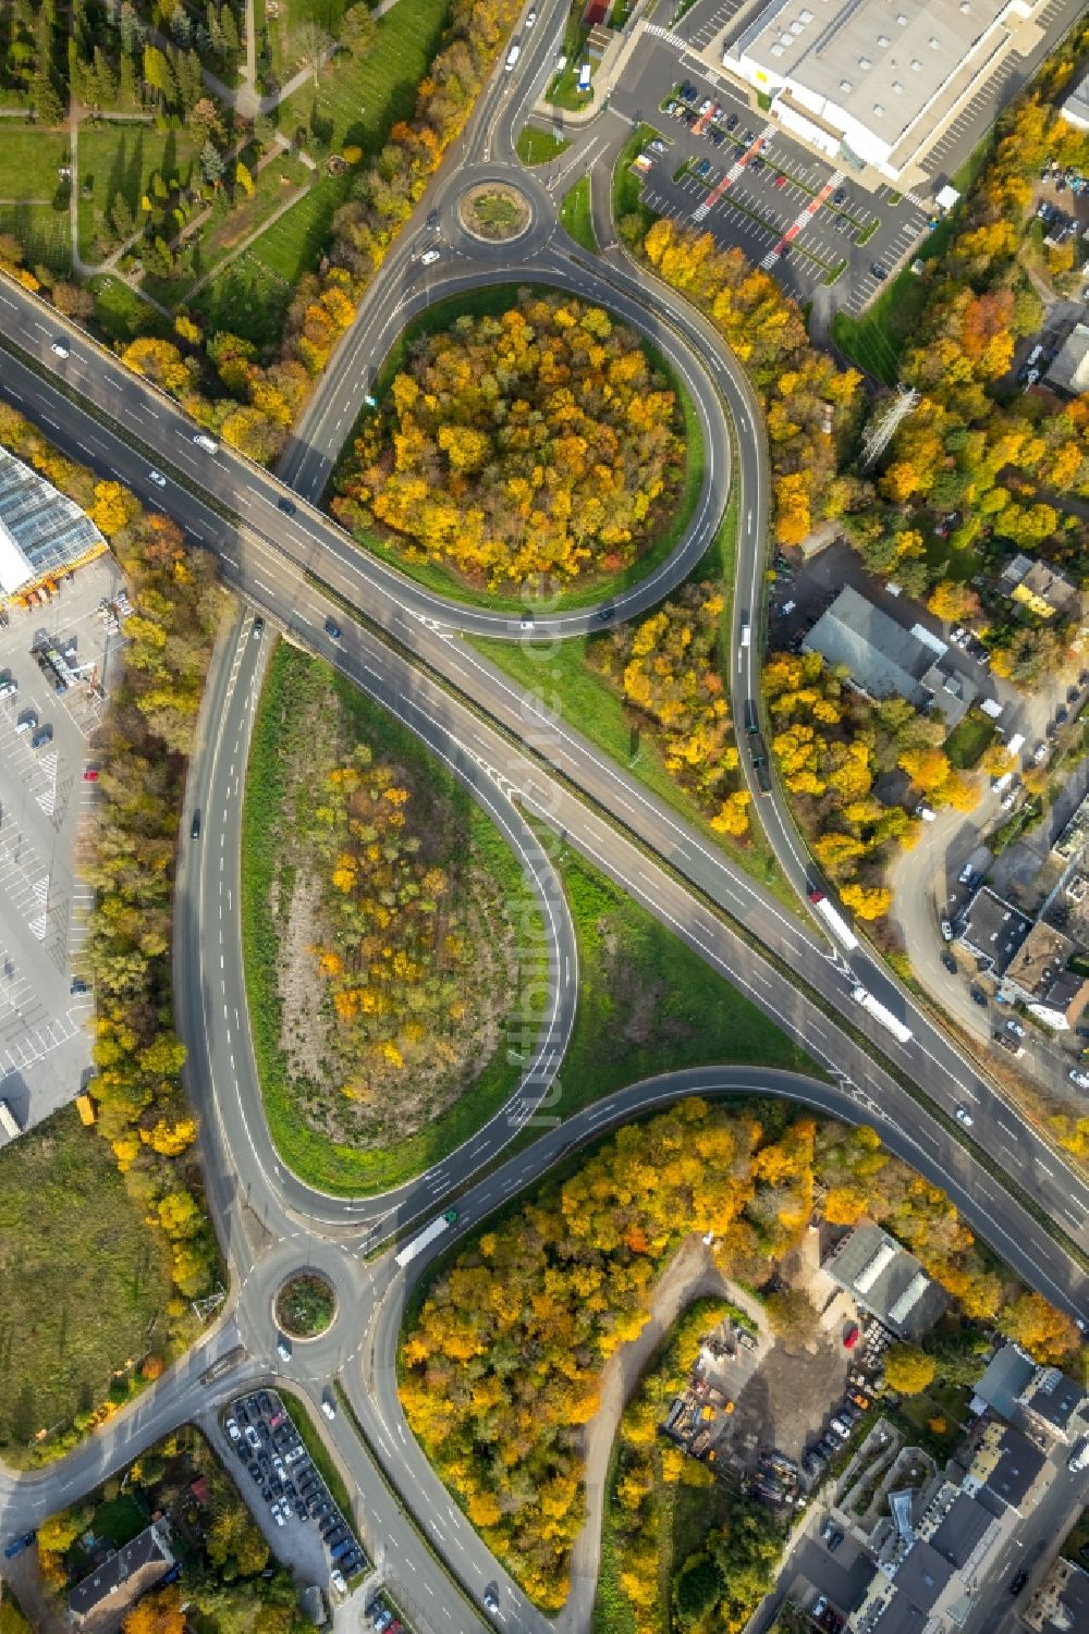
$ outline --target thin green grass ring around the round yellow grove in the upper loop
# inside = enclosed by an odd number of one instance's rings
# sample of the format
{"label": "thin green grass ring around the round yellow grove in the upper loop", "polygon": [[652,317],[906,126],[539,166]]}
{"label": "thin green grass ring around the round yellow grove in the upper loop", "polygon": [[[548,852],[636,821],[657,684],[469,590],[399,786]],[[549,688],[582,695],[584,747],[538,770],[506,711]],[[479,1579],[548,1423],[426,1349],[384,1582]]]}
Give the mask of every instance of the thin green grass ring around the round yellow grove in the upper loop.
{"label": "thin green grass ring around the round yellow grove in the upper loop", "polygon": [[[540,286],[533,286],[540,288]],[[505,312],[515,301],[515,284],[491,284],[481,289],[473,289],[468,294],[450,296],[445,301],[437,301],[435,306],[428,307],[419,317],[415,317],[397,337],[397,342],[386,356],[381,369],[378,371],[374,382],[371,386],[371,395],[381,399],[384,392],[389,391],[397,369],[404,366],[404,358],[407,355],[407,346],[419,335],[433,335],[437,330],[448,328],[456,317],[461,314],[471,314],[473,317],[481,317],[484,314]],[[544,289],[543,292],[553,292]],[[556,596],[554,606],[558,609],[571,609],[582,606],[594,606],[608,596],[618,595],[621,590],[630,588],[648,574],[654,572],[656,567],[672,556],[679,541],[688,528],[692,515],[695,511],[697,502],[700,498],[700,487],[703,484],[703,433],[700,430],[700,422],[697,418],[695,405],[687,389],[682,386],[679,377],[674,374],[669,361],[654,350],[648,342],[643,343],[644,351],[662,374],[667,376],[672,391],[677,394],[680,404],[680,412],[683,417],[683,443],[687,451],[687,464],[683,472],[683,482],[680,489],[680,497],[670,521],[656,534],[656,538],[644,547],[643,554],[631,567],[623,569],[620,574],[602,575],[589,583],[577,585],[572,590],[564,590]],[[358,436],[358,426],[371,408],[366,405],[360,410],[355,425],[348,431],[343,441],[343,449],[352,449],[355,438]],[[329,495],[335,490],[335,471],[330,477],[329,489],[325,490],[325,502]],[[402,574],[415,578],[419,583],[425,585],[428,590],[437,592],[441,596],[450,596],[453,601],[461,601],[469,606],[486,606],[491,611],[507,611],[520,613],[525,608],[525,598],[504,595],[502,592],[479,590],[474,585],[468,585],[461,577],[445,567],[441,562],[410,562],[406,560],[404,552],[397,547],[392,539],[388,539],[376,533],[368,533],[365,539],[358,541],[365,549],[371,551],[383,562],[389,562],[392,567],[399,567]]]}

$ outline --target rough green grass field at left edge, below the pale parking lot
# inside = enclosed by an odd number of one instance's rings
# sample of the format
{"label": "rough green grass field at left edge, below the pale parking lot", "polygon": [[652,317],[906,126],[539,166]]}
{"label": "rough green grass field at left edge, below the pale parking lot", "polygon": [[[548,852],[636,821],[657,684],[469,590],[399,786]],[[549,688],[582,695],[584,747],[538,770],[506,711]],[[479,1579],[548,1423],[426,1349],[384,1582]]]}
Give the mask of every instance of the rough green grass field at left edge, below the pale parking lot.
{"label": "rough green grass field at left edge, below the pale parking lot", "polygon": [[110,1145],[74,1106],[0,1152],[0,1454],[103,1400],[147,1353],[170,1278]]}

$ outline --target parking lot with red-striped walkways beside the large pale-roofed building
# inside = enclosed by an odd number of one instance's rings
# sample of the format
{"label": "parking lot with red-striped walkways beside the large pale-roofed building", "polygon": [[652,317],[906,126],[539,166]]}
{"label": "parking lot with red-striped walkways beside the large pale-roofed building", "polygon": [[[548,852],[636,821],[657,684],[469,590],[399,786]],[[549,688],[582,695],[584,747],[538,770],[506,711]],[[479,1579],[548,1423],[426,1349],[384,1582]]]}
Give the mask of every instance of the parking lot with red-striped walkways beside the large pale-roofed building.
{"label": "parking lot with red-striped walkways beside the large pale-roofed building", "polygon": [[868,193],[700,59],[679,60],[672,41],[644,36],[613,106],[659,132],[643,185],[651,209],[736,245],[798,301],[819,291],[829,314],[860,312],[927,232],[919,203]]}

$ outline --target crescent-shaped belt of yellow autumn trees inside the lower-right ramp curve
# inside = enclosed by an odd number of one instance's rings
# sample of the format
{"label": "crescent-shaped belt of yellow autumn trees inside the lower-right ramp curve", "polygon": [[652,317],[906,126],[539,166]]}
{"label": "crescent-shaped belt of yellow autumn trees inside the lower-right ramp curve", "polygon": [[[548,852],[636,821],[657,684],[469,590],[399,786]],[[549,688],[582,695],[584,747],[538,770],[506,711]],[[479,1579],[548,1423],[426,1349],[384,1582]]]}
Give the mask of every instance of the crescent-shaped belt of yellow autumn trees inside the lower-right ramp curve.
{"label": "crescent-shaped belt of yellow autumn trees inside the lower-right ramp curve", "polygon": [[[1050,1310],[1048,1327],[1048,1307],[996,1268],[950,1199],[891,1159],[872,1129],[782,1108],[769,1108],[764,1127],[752,1108],[700,1100],[628,1126],[567,1180],[466,1242],[402,1340],[412,1430],[541,1608],[556,1611],[567,1595],[585,1511],[582,1426],[597,1410],[602,1369],[643,1330],[656,1278],[690,1232],[710,1232],[719,1266],[759,1284],[801,1240],[819,1198],[829,1222],[885,1224],[966,1315],[999,1325],[1009,1315],[1040,1359],[1078,1351],[1073,1320]],[[616,1485],[630,1533],[620,1590],[639,1627],[656,1605],[644,1516],[664,1480],[683,1479],[675,1462],[656,1462],[656,1409],[641,1399],[630,1409]],[[759,1582],[762,1551],[749,1542],[741,1526],[737,1570],[726,1574],[741,1598],[742,1583]],[[731,1547],[716,1547],[724,1564]]]}

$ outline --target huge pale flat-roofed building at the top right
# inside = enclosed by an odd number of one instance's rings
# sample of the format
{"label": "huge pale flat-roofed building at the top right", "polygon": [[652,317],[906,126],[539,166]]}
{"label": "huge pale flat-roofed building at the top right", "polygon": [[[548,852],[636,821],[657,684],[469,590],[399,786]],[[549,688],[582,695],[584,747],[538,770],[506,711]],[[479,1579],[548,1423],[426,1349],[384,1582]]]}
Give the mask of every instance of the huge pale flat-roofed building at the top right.
{"label": "huge pale flat-roofed building at the top right", "polygon": [[770,0],[724,65],[788,131],[862,180],[909,188],[1043,0]]}

